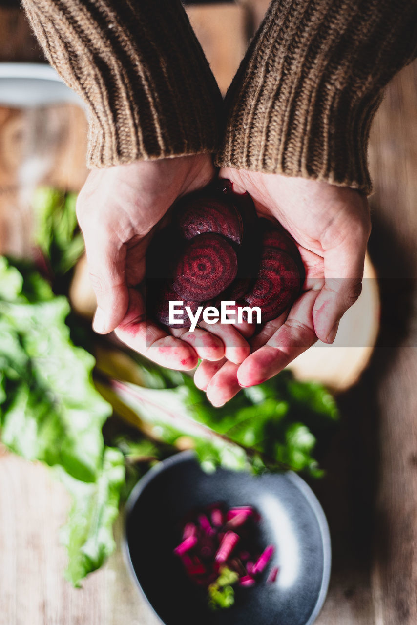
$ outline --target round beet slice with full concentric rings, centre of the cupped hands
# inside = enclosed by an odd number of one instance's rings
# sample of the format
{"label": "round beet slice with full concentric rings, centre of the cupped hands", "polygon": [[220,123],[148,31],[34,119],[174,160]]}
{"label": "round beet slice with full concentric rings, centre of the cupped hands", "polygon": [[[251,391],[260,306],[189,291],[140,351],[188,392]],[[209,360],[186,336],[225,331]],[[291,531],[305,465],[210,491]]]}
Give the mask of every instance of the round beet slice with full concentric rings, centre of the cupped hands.
{"label": "round beet slice with full concentric rings, centre of the cupped hands", "polygon": [[233,282],[238,259],[231,244],[219,234],[191,239],[174,268],[174,291],[182,299],[204,302]]}

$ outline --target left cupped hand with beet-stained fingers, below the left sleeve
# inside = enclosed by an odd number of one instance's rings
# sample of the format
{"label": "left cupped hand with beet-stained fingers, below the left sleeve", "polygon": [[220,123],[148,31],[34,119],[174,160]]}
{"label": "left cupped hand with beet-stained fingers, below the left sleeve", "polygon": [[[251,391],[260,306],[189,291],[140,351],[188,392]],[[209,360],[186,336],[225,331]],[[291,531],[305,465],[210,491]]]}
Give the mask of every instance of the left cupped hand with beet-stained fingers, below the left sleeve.
{"label": "left cupped hand with beet-stained fingers, below the left sleeve", "polygon": [[[173,369],[193,369],[198,357],[223,357],[223,341],[203,329],[174,337],[145,322],[143,300],[134,287],[144,279],[146,248],[171,204],[213,176],[208,154],[136,161],[94,169],[78,197],[77,216],[98,303],[94,329],[101,334],[114,330],[132,349]],[[244,343],[247,351],[239,362],[249,351]]]}

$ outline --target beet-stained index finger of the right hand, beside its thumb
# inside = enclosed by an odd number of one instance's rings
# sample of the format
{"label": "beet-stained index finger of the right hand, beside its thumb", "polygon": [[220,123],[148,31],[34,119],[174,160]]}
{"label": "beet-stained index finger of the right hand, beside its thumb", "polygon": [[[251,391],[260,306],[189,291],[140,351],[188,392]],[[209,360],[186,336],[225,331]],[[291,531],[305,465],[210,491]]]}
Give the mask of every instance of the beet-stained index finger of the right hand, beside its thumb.
{"label": "beet-stained index finger of the right hand, beside its thumb", "polygon": [[237,373],[241,386],[254,386],[273,377],[316,342],[312,317],[316,297],[317,291],[307,291],[299,297],[286,322],[263,347],[246,358]]}

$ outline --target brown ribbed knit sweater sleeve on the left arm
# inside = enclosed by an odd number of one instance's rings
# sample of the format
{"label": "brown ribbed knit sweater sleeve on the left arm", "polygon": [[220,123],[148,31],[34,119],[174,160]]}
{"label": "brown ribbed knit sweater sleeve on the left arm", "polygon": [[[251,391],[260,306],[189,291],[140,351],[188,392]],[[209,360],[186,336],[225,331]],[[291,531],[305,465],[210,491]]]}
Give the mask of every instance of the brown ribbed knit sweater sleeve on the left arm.
{"label": "brown ribbed knit sweater sleeve on the left arm", "polygon": [[89,111],[88,164],[210,153],[221,96],[180,0],[23,0]]}

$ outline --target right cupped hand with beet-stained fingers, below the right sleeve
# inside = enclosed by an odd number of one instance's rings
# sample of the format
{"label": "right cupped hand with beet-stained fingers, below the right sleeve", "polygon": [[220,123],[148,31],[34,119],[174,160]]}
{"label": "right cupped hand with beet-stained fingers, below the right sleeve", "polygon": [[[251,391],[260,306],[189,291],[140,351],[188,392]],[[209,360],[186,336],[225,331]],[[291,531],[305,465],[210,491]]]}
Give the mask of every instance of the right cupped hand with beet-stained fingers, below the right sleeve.
{"label": "right cupped hand with beet-stained fingers, below the right sleeve", "polygon": [[368,202],[354,189],[236,169],[221,169],[219,176],[233,181],[236,191],[248,191],[259,216],[278,219],[290,232],[306,281],[291,309],[253,337],[252,353],[240,366],[200,364],[194,381],[214,406],[273,377],[317,339],[334,341],[339,320],[361,292],[370,232]]}

